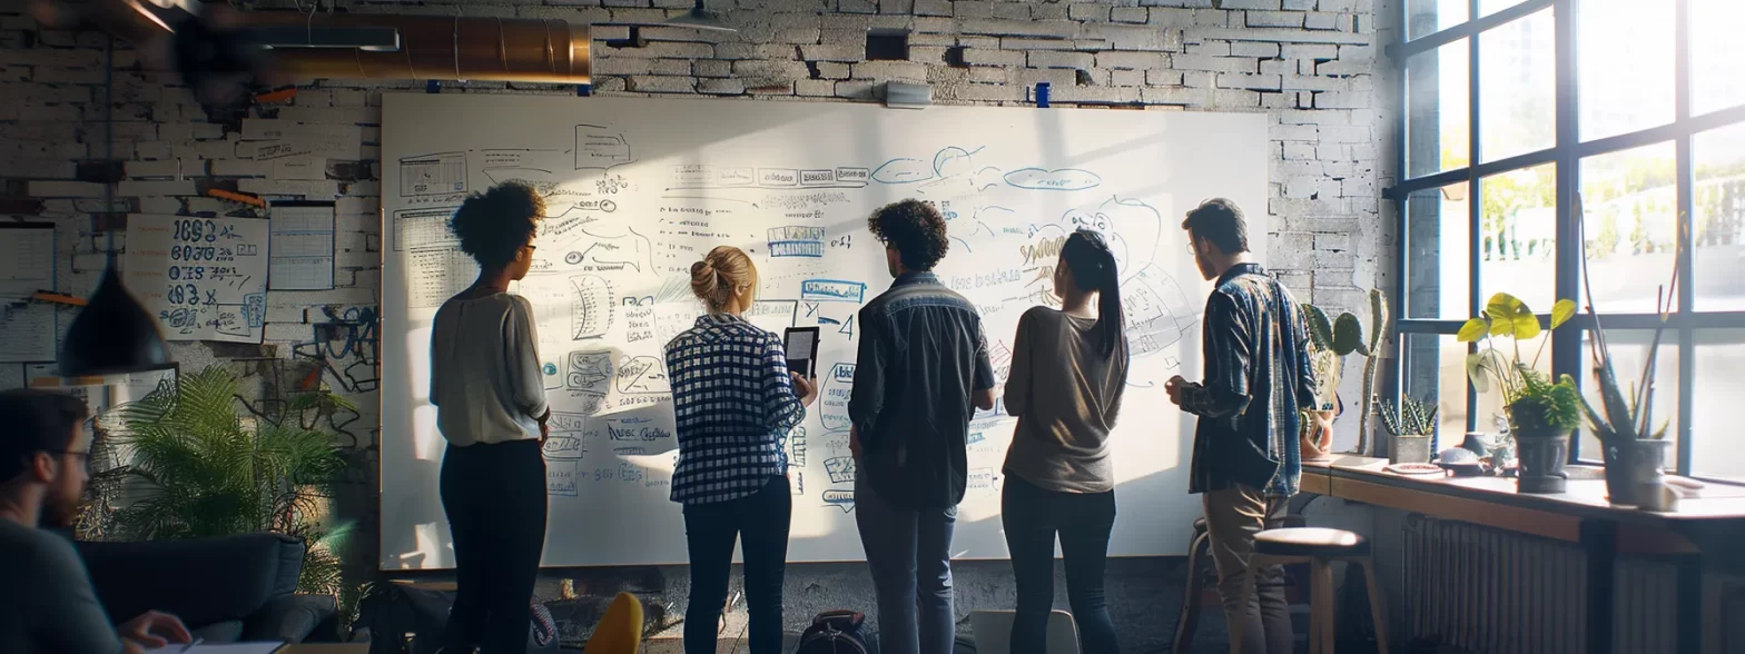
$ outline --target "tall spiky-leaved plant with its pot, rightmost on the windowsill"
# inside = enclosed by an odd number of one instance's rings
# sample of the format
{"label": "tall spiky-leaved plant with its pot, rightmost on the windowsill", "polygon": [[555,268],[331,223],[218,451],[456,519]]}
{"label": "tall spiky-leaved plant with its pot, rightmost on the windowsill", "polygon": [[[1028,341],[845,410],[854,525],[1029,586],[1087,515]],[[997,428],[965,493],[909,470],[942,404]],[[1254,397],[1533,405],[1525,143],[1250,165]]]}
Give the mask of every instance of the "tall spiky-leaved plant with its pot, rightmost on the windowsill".
{"label": "tall spiky-leaved plant with its pot, rightmost on the windowsill", "polygon": [[[1583,220],[1581,220],[1581,197],[1576,197],[1576,237],[1581,239]],[[1659,324],[1654,328],[1654,340],[1647,349],[1647,363],[1642,366],[1642,378],[1639,384],[1630,385],[1630,394],[1626,396],[1618,382],[1618,373],[1612,370],[1612,356],[1605,345],[1605,330],[1600,326],[1600,316],[1593,310],[1593,284],[1588,281],[1588,260],[1583,253],[1581,267],[1581,284],[1588,296],[1588,316],[1593,319],[1593,338],[1588,342],[1590,354],[1593,358],[1593,378],[1598,382],[1600,391],[1600,408],[1604,415],[1581,398],[1581,408],[1588,417],[1588,426],[1593,429],[1593,436],[1600,441],[1600,450],[1605,457],[1605,494],[1612,504],[1635,506],[1647,511],[1670,511],[1677,497],[1665,488],[1665,474],[1661,473],[1666,466],[1666,448],[1672,445],[1666,441],[1666,424],[1658,427],[1653,422],[1653,399],[1654,399],[1654,363],[1659,354],[1659,338],[1666,331],[1666,319],[1672,314],[1670,298],[1675,296],[1679,290],[1679,265],[1677,262],[1684,258],[1684,230],[1689,228],[1686,220],[1679,221],[1679,239],[1673,255],[1672,267],[1672,284],[1670,291],[1659,293],[1661,302],[1656,302],[1656,312],[1659,314]],[[1565,377],[1565,380],[1569,380]]]}

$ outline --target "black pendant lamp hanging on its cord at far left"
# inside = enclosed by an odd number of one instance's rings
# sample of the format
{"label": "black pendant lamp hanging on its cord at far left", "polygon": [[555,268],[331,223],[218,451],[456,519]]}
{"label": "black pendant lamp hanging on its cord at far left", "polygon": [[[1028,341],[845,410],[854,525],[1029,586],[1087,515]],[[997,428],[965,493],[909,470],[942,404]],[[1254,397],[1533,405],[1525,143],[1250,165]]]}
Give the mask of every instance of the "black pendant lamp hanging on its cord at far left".
{"label": "black pendant lamp hanging on its cord at far left", "polygon": [[[108,38],[103,66],[103,153],[113,160],[113,91],[115,91],[115,37]],[[103,211],[113,208],[113,181],[103,187]],[[152,314],[127,293],[120,274],[115,270],[115,228],[108,230],[108,267],[96,293],[61,342],[61,377],[89,375],[124,375],[133,371],[162,370],[169,364],[169,351],[164,347],[164,335],[157,330]]]}

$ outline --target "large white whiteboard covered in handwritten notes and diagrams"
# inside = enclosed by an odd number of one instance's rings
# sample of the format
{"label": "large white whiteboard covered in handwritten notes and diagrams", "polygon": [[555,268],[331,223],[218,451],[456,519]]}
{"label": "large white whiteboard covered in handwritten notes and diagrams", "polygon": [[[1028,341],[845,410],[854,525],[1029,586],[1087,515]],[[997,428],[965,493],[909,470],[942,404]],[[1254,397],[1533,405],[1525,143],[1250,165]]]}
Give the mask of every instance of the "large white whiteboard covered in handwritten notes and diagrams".
{"label": "large white whiteboard covered in handwritten notes and diagrams", "polygon": [[[824,328],[822,398],[789,443],[789,560],[864,560],[846,459],[853,316],[890,284],[866,218],[904,197],[949,218],[937,272],[981,307],[1002,380],[1017,317],[1049,302],[1057,242],[1075,225],[1112,237],[1134,361],[1113,434],[1110,553],[1187,551],[1194,422],[1162,384],[1197,375],[1208,283],[1180,223],[1202,199],[1230,197],[1248,209],[1249,242],[1265,244],[1265,115],[389,94],[382,124],[384,569],[454,565],[426,399],[429,321],[476,274],[448,213],[508,180],[548,195],[534,272],[515,290],[539,312],[557,412],[544,565],[686,562],[681,508],[667,499],[677,443],[661,345],[698,316],[689,265],[717,244],[757,263],[756,323]],[[1012,426],[988,413],[970,429],[960,558],[1007,556],[1000,464]]]}

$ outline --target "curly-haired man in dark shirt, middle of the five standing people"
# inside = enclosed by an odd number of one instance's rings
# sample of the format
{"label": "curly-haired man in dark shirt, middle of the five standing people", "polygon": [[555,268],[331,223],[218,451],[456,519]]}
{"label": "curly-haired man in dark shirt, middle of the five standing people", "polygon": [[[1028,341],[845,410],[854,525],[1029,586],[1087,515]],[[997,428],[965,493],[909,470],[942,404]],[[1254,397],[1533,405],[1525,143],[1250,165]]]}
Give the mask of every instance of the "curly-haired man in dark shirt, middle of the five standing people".
{"label": "curly-haired man in dark shirt, middle of the five standing people", "polygon": [[[848,399],[855,523],[878,593],[885,654],[949,654],[951,530],[968,483],[970,417],[993,408],[993,364],[975,305],[934,276],[946,218],[920,201],[872,213],[895,281],[860,309]],[[974,406],[974,408],[972,408]]]}

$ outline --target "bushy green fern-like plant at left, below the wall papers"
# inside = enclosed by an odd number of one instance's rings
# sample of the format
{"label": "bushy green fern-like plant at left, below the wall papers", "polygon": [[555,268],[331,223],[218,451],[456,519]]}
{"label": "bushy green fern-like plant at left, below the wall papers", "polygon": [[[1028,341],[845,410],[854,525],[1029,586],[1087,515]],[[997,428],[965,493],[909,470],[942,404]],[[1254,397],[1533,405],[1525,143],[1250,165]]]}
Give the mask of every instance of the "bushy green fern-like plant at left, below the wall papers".
{"label": "bushy green fern-like plant at left, below the wall papers", "polygon": [[115,511],[115,537],[187,539],[277,532],[305,544],[298,591],[337,595],[349,525],[328,525],[332,485],[346,469],[335,436],[311,415],[354,412],[326,389],[290,396],[277,412],[239,412],[237,378],[209,366],[119,408],[115,443],[131,452],[117,474],[140,495]]}

